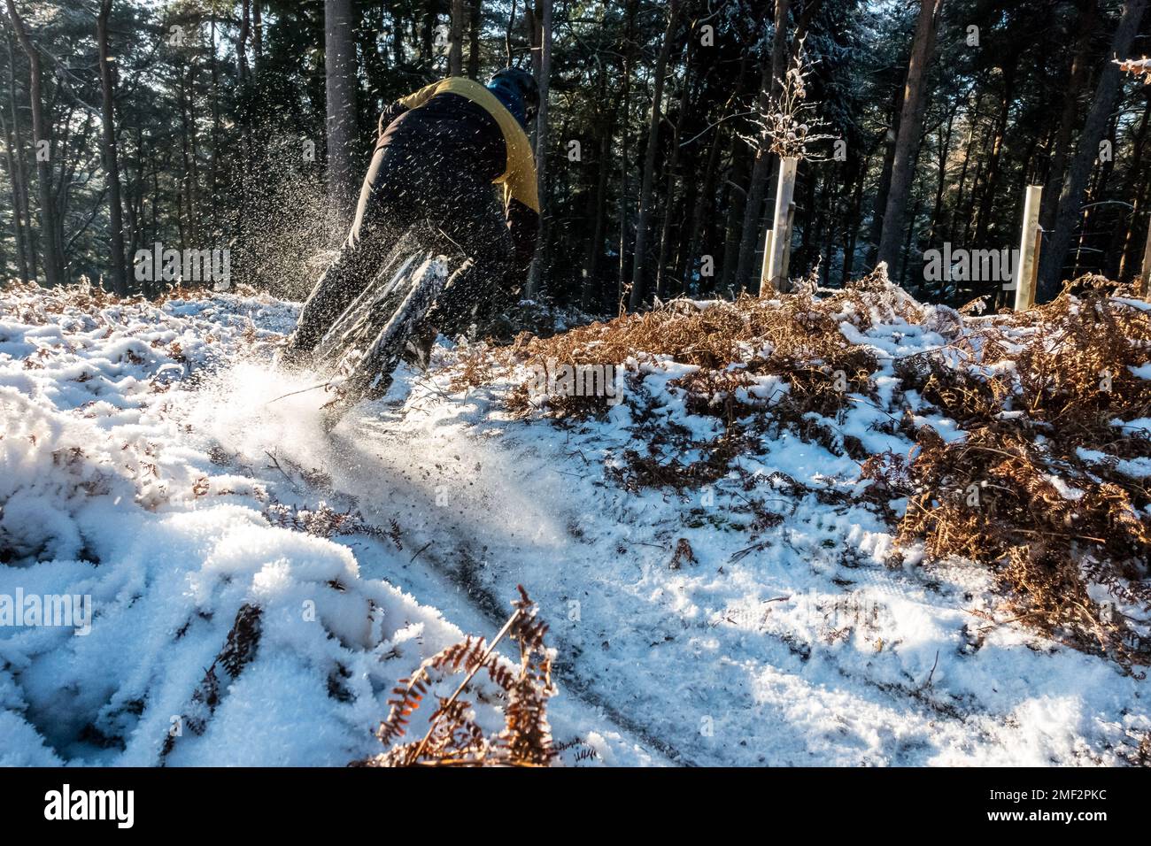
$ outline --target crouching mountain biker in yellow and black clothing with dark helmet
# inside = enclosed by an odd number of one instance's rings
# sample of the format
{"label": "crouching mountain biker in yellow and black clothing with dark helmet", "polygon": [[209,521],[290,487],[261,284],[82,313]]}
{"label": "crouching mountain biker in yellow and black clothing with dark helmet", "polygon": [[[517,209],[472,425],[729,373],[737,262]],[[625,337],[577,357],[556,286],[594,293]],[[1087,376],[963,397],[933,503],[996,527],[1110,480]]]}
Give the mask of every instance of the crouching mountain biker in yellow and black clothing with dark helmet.
{"label": "crouching mountain biker in yellow and black clothing with dark helmet", "polygon": [[436,242],[429,249],[474,260],[428,325],[456,334],[511,305],[535,251],[540,200],[526,129],[538,108],[532,75],[504,68],[487,86],[453,76],[384,109],[351,231],[304,303],[283,360],[306,358],[412,227]]}

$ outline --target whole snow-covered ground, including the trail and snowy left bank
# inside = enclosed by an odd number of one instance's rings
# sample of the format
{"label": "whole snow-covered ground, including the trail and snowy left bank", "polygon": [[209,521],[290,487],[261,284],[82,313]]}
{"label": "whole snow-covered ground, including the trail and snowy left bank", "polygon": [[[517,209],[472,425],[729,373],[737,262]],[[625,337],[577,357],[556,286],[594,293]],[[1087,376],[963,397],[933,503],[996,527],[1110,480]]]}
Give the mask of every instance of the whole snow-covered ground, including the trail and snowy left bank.
{"label": "whole snow-covered ground, including the trail and snowy left bank", "polygon": [[[847,457],[784,434],[712,487],[632,493],[609,472],[637,439],[631,403],[516,420],[506,382],[452,388],[445,346],[326,435],[318,380],[270,366],[295,314],[254,296],[0,297],[0,597],[93,611],[86,634],[0,626],[0,763],[375,754],[395,681],[490,637],[517,584],[551,625],[567,764],[1115,764],[1151,730],[1146,681],[973,613],[992,607],[983,569],[886,566],[870,510],[760,486],[775,517],[749,535],[742,479],[849,490]],[[938,343],[907,325],[864,340]],[[668,388],[679,373],[646,366],[649,411],[715,434]],[[877,409],[853,413],[869,451],[909,449],[864,434]],[[333,512],[353,515],[344,533],[302,531]],[[253,607],[233,677],[228,634]]]}

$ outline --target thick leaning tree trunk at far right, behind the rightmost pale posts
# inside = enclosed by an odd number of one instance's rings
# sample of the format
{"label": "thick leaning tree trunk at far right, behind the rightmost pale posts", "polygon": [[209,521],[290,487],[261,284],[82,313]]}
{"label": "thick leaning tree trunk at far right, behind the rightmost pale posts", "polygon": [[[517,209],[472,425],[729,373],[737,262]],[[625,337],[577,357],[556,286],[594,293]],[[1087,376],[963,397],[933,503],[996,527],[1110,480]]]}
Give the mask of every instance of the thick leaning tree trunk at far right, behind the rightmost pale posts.
{"label": "thick leaning tree trunk at far right, behind the rightmost pale posts", "polygon": [[1083,189],[1091,173],[1091,166],[1099,154],[1099,142],[1107,130],[1111,109],[1115,104],[1115,94],[1119,92],[1120,70],[1119,66],[1111,60],[1114,56],[1127,56],[1135,36],[1138,33],[1145,8],[1146,0],[1127,0],[1123,3],[1123,15],[1111,39],[1106,64],[1099,74],[1099,83],[1095,90],[1095,100],[1087,121],[1083,123],[1083,131],[1080,132],[1075,158],[1072,160],[1067,181],[1059,196],[1059,211],[1055,214],[1054,230],[1051,234],[1051,241],[1039,257],[1039,290],[1036,297],[1038,302],[1049,300],[1059,292],[1059,277],[1064,259],[1067,258],[1067,250],[1070,247],[1075,223],[1078,221]]}

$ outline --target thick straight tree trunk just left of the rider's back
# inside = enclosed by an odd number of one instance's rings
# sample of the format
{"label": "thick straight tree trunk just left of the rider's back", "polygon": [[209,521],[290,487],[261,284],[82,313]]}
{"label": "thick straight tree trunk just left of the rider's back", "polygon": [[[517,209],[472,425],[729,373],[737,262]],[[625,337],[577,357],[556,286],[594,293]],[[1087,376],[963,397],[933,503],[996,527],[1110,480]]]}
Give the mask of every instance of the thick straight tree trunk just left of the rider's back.
{"label": "thick straight tree trunk just left of the rider's back", "polygon": [[352,0],[325,0],[323,68],[327,92],[328,193],[343,227],[351,219],[356,191],[356,25]]}

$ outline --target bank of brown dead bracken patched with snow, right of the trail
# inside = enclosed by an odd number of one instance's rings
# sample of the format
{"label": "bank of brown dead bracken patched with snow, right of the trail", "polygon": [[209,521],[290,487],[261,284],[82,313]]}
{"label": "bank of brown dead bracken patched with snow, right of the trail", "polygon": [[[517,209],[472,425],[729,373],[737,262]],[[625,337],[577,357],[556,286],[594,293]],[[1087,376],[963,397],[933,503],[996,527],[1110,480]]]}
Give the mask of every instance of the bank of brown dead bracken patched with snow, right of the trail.
{"label": "bank of brown dead bracken patched with snow, right of the trail", "polygon": [[[525,374],[625,365],[637,380],[653,363],[687,365],[670,387],[722,434],[700,441],[657,422],[643,391],[630,391],[639,437],[609,471],[617,483],[699,489],[786,429],[859,463],[854,493],[821,496],[869,503],[899,548],[988,567],[1014,620],[1141,672],[1151,663],[1151,311],[1102,276],[1027,312],[982,306],[917,303],[881,267],[844,290],[809,279],[790,296],[678,299],[548,338],[525,333],[470,350],[458,383],[510,378],[509,411],[566,425],[607,413],[607,398],[561,386],[540,402]],[[902,355],[913,329],[936,343]],[[894,352],[876,338],[894,338]],[[764,378],[786,389],[762,396]],[[868,427],[902,436],[906,452],[863,447],[852,425],[861,404],[885,412]],[[942,435],[940,419],[959,436]],[[897,551],[890,563],[901,561]]]}

